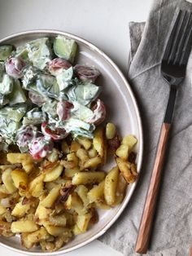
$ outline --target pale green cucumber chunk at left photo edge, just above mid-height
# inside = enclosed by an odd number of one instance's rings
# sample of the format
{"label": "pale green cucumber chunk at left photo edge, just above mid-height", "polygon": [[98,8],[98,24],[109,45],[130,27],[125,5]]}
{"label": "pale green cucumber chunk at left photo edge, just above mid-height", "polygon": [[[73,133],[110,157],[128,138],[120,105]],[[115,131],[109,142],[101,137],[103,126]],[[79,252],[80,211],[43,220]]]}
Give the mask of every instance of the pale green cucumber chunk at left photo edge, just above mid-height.
{"label": "pale green cucumber chunk at left photo edge, just above mid-height", "polygon": [[14,107],[5,107],[0,109],[0,117],[7,118],[12,121],[20,121],[26,113],[27,107],[25,105],[15,105]]}

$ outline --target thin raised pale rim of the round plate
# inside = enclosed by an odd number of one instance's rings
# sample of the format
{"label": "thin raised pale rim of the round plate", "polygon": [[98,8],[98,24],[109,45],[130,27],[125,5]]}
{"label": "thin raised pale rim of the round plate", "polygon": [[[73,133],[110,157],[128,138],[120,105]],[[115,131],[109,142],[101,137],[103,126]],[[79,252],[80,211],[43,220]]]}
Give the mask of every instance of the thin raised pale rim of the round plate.
{"label": "thin raised pale rim of the round plate", "polygon": [[[113,68],[115,68],[116,72],[119,74],[120,78],[123,80],[124,85],[126,86],[126,89],[129,92],[130,98],[132,99],[132,102],[133,102],[133,108],[135,110],[136,117],[137,117],[138,132],[139,132],[139,137],[140,137],[140,143],[139,143],[139,149],[138,149],[139,156],[138,156],[138,161],[137,161],[137,170],[138,170],[138,173],[140,174],[141,167],[142,167],[143,147],[144,147],[143,130],[142,130],[142,117],[141,117],[141,114],[139,112],[139,108],[138,108],[138,105],[137,105],[137,100],[136,100],[136,98],[133,94],[133,90],[132,90],[131,86],[129,85],[129,82],[125,78],[124,73],[121,72],[120,68],[116,65],[116,63],[113,60],[111,60],[111,58],[107,54],[105,54],[104,51],[100,50],[100,48],[95,46],[92,42],[89,42],[88,40],[85,40],[84,38],[76,36],[73,33],[64,32],[64,31],[61,31],[61,30],[58,30],[58,29],[30,29],[30,30],[25,30],[25,31],[18,32],[18,33],[11,33],[10,35],[8,35],[5,38],[1,38],[0,43],[2,43],[4,41],[7,41],[7,40],[10,40],[10,39],[18,38],[20,36],[29,35],[29,34],[36,34],[36,33],[52,33],[52,34],[55,33],[55,34],[61,34],[63,36],[67,36],[68,38],[73,38],[74,40],[77,40],[79,42],[82,42],[86,46],[89,46],[89,48],[91,50],[96,51],[99,55],[102,55],[103,58],[105,60],[107,60],[107,62],[109,64],[111,64],[111,66]],[[138,182],[138,179],[133,183],[132,187],[130,188],[129,196],[127,196],[126,200],[121,204],[120,209],[118,210],[116,216],[114,218],[112,218],[111,221],[108,222],[105,225],[105,227],[103,227],[103,230],[101,230],[100,232],[98,232],[94,236],[91,236],[88,240],[86,240],[84,242],[81,242],[79,245],[74,245],[71,248],[61,249],[61,250],[55,251],[55,252],[24,251],[23,249],[14,248],[11,245],[5,245],[1,241],[0,241],[0,245],[2,245],[3,247],[5,247],[7,249],[11,249],[12,251],[15,251],[17,253],[20,253],[20,254],[28,254],[28,255],[33,255],[33,256],[37,256],[37,255],[52,256],[52,255],[59,255],[59,254],[67,254],[68,252],[71,252],[75,249],[79,249],[79,248],[89,244],[90,242],[98,239],[98,237],[103,236],[103,234],[105,232],[107,232],[107,230],[116,222],[117,218],[120,217],[120,214],[122,214],[125,207],[128,205],[128,203],[130,201],[130,198],[133,195],[133,192],[134,192],[134,190],[137,186],[137,182]]]}

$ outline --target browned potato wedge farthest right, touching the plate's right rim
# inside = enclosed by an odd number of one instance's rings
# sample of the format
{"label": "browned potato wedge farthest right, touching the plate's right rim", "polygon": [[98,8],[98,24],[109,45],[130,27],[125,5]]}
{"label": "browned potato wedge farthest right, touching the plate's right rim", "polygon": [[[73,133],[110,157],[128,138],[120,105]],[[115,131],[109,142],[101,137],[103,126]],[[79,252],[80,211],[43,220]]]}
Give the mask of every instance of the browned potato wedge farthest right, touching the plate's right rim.
{"label": "browned potato wedge farthest right, touching the plate's right rim", "polygon": [[127,183],[133,183],[135,179],[137,179],[137,169],[135,164],[131,164],[129,161],[124,161],[120,157],[116,158],[116,163]]}

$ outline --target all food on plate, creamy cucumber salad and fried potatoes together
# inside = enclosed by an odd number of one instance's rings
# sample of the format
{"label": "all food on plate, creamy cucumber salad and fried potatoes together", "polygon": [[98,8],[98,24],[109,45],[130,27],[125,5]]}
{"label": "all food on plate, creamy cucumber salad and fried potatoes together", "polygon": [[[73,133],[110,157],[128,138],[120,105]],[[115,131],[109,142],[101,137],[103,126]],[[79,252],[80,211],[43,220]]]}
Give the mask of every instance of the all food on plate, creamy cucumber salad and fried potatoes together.
{"label": "all food on plate, creamy cucumber salad and fried potatoes together", "polygon": [[104,122],[100,73],[77,54],[62,35],[0,45],[0,235],[27,249],[60,249],[137,179],[137,139]]}

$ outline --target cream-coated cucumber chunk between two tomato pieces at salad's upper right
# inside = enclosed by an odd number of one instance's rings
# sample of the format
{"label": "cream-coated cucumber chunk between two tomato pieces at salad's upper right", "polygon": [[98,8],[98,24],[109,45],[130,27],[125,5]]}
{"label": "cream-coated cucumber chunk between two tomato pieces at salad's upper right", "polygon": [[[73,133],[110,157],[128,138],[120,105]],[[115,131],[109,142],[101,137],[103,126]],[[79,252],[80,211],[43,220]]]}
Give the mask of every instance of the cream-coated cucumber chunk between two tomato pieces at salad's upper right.
{"label": "cream-coated cucumber chunk between two tomato pieces at salad's upper right", "polygon": [[59,85],[59,90],[64,90],[66,89],[72,80],[73,76],[73,68],[68,68],[68,69],[63,69],[61,73],[59,73],[58,76],[56,76],[58,85]]}

